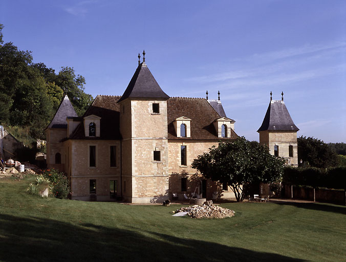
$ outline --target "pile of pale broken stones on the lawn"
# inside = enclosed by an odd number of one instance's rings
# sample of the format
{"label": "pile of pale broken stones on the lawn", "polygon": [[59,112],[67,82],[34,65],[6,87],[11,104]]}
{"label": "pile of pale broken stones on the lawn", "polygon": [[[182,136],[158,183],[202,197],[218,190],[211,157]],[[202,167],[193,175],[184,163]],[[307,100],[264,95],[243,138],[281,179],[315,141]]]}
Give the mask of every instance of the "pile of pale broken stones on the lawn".
{"label": "pile of pale broken stones on the lawn", "polygon": [[225,217],[234,216],[233,210],[222,208],[220,206],[214,206],[211,200],[204,202],[202,206],[194,205],[189,207],[181,207],[175,213],[179,212],[187,212],[187,215],[193,219],[202,219],[203,217],[209,219],[224,219]]}

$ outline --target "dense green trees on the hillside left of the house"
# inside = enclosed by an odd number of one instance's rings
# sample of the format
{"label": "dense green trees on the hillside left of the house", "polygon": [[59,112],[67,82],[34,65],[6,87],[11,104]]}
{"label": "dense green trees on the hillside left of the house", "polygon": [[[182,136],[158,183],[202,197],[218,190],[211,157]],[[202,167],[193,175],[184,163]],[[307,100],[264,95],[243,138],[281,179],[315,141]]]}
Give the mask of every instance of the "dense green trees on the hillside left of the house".
{"label": "dense green trees on the hillside left of the house", "polygon": [[44,63],[33,63],[30,51],[18,50],[3,41],[0,24],[0,124],[30,127],[30,135],[44,139],[44,129],[66,93],[78,115],[93,98],[84,93],[85,79],[73,68],[62,67],[58,74]]}

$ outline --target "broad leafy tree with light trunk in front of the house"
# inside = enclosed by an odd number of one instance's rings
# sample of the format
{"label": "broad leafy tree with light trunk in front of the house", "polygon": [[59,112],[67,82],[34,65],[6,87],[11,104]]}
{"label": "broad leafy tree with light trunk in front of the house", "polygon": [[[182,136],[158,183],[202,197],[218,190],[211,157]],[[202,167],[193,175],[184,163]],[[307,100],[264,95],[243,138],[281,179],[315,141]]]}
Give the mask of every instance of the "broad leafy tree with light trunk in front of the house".
{"label": "broad leafy tree with light trunk in front of the house", "polygon": [[220,142],[194,159],[191,167],[205,178],[227,183],[237,202],[243,201],[243,187],[250,183],[271,183],[282,176],[285,161],[269,153],[268,147],[239,137]]}

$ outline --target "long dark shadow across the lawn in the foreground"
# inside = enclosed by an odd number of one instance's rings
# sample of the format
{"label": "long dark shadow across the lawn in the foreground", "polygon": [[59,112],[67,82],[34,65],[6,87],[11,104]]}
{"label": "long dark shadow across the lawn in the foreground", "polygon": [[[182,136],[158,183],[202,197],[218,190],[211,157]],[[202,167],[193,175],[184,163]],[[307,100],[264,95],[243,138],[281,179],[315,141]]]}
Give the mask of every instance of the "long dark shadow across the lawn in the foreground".
{"label": "long dark shadow across the lawn in the foreground", "polygon": [[0,223],[2,261],[303,261],[161,233],[141,234],[93,224],[73,225],[4,214],[0,215]]}

